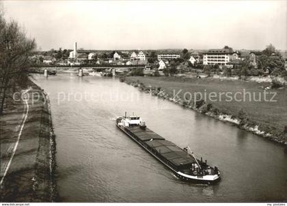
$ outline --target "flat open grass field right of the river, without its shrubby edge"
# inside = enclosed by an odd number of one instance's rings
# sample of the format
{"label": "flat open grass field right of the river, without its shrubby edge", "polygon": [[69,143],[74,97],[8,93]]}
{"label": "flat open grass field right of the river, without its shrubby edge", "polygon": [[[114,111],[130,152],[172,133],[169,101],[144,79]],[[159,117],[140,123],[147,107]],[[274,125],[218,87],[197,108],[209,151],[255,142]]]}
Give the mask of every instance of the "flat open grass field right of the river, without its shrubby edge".
{"label": "flat open grass field right of the river, without its shrubby edge", "polygon": [[[215,92],[217,98],[207,98],[206,102],[217,108],[219,113],[229,114],[236,118],[238,117],[238,112],[242,109],[247,113],[249,125],[258,125],[258,129],[269,132],[272,136],[286,136],[284,134],[284,127],[287,125],[286,88],[265,90],[268,101],[264,101],[264,88],[270,86],[270,83],[181,77],[126,77],[126,81],[139,81],[146,87],[161,88],[169,95],[174,96],[174,94],[178,94],[180,98],[183,97],[184,92],[190,92],[191,94],[200,92],[206,96],[211,92]],[[220,92],[231,92],[230,94],[233,97],[236,92],[241,92],[241,94],[236,94],[236,99],[233,98],[232,101],[226,95],[222,95],[220,101]],[[249,99],[249,94],[247,93],[251,94],[251,99]],[[260,95],[261,101],[258,101]],[[274,98],[272,98],[273,96]],[[215,99],[216,101],[213,101]]]}

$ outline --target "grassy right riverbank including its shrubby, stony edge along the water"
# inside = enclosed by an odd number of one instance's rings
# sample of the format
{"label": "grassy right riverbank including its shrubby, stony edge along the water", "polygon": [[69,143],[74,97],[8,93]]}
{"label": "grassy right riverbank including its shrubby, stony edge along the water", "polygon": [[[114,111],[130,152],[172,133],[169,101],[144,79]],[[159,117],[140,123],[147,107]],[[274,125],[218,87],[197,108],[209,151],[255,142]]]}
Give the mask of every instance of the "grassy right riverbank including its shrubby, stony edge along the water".
{"label": "grassy right riverbank including its shrubby, stony edge along the water", "polygon": [[[124,80],[126,83],[133,84],[134,86],[139,86],[143,90],[152,90],[156,95],[159,95],[159,90],[161,88],[161,97],[169,99],[176,103],[180,103],[185,107],[191,107],[198,112],[208,114],[215,118],[221,120],[229,120],[230,122],[236,123],[243,129],[253,131],[260,136],[265,136],[270,140],[284,144],[284,138],[286,138],[286,133],[284,133],[284,126],[287,125],[287,90],[283,88],[281,90],[265,90],[268,92],[266,94],[269,101],[264,101],[263,93],[264,89],[270,86],[270,83],[256,83],[247,81],[228,81],[220,79],[191,79],[191,78],[181,78],[181,77],[126,77]],[[251,93],[251,101],[249,100],[249,94]],[[206,94],[208,96],[211,92],[217,94],[217,98],[206,99],[203,105],[187,103],[182,101],[184,98],[184,93],[190,92],[194,94],[195,92],[200,92],[202,95]],[[236,101],[226,96],[221,96],[221,101],[219,101],[219,93],[231,92],[234,95],[236,92],[241,92],[242,94],[236,94],[236,99],[241,99],[242,101]],[[273,100],[273,93],[276,92]],[[178,94],[179,99],[174,98],[174,94]],[[255,95],[255,99],[253,97]],[[259,95],[261,95],[261,101],[258,101]],[[245,96],[245,101],[243,98]],[[194,98],[193,98],[194,99]],[[217,101],[213,101],[217,99]],[[244,124],[241,122],[243,117],[239,112],[244,111]]]}

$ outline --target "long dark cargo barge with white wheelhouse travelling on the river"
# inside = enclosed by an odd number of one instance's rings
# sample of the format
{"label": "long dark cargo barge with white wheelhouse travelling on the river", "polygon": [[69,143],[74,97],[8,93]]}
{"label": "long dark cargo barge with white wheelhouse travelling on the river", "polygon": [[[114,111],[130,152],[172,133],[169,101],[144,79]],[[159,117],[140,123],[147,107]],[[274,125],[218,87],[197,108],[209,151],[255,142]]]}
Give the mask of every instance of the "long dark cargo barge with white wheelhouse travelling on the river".
{"label": "long dark cargo barge with white wheelhouse travelling on the river", "polygon": [[146,127],[139,116],[122,116],[117,118],[116,125],[133,139],[150,155],[159,160],[178,179],[193,183],[216,183],[220,180],[217,167],[208,166],[206,160],[197,159],[189,146],[184,149],[165,140]]}

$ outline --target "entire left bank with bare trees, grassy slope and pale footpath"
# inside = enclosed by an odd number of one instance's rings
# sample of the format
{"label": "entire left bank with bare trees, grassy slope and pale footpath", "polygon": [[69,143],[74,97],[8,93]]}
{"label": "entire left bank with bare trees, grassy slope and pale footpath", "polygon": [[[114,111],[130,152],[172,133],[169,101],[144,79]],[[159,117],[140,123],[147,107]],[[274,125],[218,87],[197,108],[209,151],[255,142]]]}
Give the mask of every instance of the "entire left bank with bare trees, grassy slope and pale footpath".
{"label": "entire left bank with bare trees, grassy slope and pale footpath", "polygon": [[1,202],[57,201],[49,98],[28,77],[36,40],[0,6]]}

